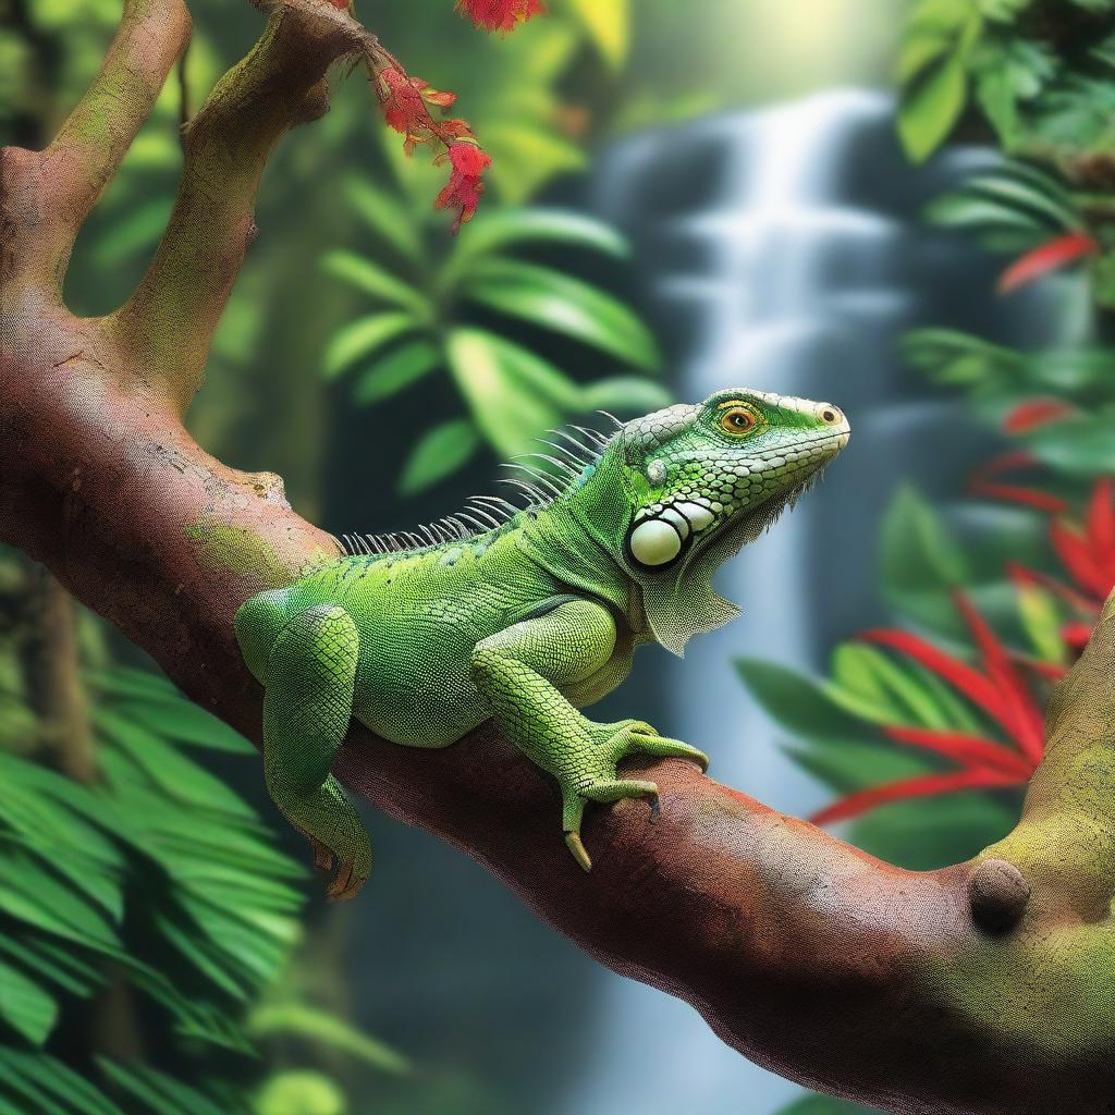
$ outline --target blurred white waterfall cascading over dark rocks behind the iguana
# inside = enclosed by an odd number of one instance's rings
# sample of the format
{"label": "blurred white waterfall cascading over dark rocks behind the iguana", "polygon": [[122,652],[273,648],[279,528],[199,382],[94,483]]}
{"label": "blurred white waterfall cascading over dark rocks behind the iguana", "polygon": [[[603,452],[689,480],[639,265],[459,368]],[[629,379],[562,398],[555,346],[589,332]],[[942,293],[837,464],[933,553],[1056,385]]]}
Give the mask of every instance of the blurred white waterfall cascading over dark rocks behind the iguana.
{"label": "blurred white waterfall cascading over dark rocks behind the iguana", "polygon": [[[688,181],[678,174],[687,165],[701,168]],[[711,200],[694,201],[707,192],[706,171]],[[986,302],[987,265],[919,223],[938,175],[901,159],[890,98],[845,90],[637,137],[597,178],[594,207],[632,236],[643,301],[678,338],[679,398],[757,387],[828,399],[852,421],[825,483],[720,572],[717,586],[743,618],[695,640],[686,662],[661,675],[659,727],[708,750],[715,777],[796,815],[825,792],[779,752],[733,659],[820,665],[827,643],[879,614],[875,540],[894,484],[914,476],[947,488],[982,449],[952,420],[957,404],[910,405],[917,384],[894,351],[915,322],[980,313],[969,322],[979,328],[1001,317]],[[963,274],[976,304],[958,310]],[[631,715],[631,698],[626,707]],[[641,985],[609,981],[592,1025],[595,1063],[556,1107],[563,1115],[766,1115],[796,1092],[721,1045],[689,1007]]]}

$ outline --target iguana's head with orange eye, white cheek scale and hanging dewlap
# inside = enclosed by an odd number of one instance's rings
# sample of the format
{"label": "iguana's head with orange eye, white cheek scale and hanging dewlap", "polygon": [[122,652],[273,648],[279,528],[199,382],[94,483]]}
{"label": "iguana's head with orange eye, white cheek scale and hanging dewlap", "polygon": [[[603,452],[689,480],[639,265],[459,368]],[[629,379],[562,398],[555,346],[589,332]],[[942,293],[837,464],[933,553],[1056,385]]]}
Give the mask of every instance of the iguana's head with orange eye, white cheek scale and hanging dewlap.
{"label": "iguana's head with orange eye, white cheek scale and hanging dewlap", "polygon": [[[641,586],[655,638],[681,653],[738,609],[716,569],[770,525],[847,445],[838,407],[730,388],[619,430],[578,515]],[[604,487],[611,487],[610,498]],[[617,498],[622,493],[623,498]]]}

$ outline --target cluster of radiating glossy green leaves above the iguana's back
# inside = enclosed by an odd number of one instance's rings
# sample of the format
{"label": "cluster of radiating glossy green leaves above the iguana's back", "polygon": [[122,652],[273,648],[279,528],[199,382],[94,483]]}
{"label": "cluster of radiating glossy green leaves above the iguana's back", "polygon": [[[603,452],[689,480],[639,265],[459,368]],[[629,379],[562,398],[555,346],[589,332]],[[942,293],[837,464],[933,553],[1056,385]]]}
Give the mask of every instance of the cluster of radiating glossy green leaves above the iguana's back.
{"label": "cluster of radiating glossy green leaves above the iguana's back", "polygon": [[[432,374],[448,374],[465,407],[415,444],[399,488],[420,491],[466,465],[482,446],[498,457],[523,453],[532,438],[595,409],[636,413],[668,400],[637,372],[658,368],[653,337],[622,302],[599,287],[521,259],[556,248],[623,260],[627,245],[607,225],[561,210],[505,207],[475,221],[447,244],[425,235],[424,211],[363,178],[346,195],[375,249],[330,251],[323,269],[376,307],[333,336],[327,376],[351,374],[361,406],[381,403]],[[520,326],[518,333],[508,332]],[[561,334],[624,375],[584,380],[536,355],[522,327]]]}

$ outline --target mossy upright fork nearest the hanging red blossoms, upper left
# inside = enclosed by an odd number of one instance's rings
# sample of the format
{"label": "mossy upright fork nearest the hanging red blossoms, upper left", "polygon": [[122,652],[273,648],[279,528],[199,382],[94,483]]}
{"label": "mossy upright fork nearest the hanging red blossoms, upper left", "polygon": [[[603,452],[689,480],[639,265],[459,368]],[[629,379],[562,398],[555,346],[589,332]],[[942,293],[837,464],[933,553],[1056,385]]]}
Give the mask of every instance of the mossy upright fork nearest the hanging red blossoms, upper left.
{"label": "mossy upright fork nearest the hanging red blossoms, upper left", "polygon": [[166,232],[136,292],[109,322],[180,411],[201,386],[210,340],[254,239],[255,196],[274,145],[328,109],[326,71],[369,40],[322,0],[282,0],[187,128]]}

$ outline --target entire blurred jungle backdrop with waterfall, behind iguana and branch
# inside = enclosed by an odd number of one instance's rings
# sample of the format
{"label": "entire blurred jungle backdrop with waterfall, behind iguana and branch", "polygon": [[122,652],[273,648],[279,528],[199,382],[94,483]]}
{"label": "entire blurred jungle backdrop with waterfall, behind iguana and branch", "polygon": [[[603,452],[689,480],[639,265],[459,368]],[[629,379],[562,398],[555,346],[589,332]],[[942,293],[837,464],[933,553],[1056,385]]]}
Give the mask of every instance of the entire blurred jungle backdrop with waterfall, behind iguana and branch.
{"label": "entire blurred jungle backdrop with waterfall, behind iguana and branch", "polygon": [[[258,35],[191,7],[78,242],[81,312],[140,275],[183,114]],[[598,409],[836,401],[851,447],[726,571],[744,618],[610,700],[875,854],[967,857],[1115,583],[1115,2],[549,7],[488,37],[361,0],[493,156],[481,212],[454,239],[439,172],[339,81],[268,172],[191,428],[340,534],[452,511]],[[118,14],[0,0],[0,142],[49,137]],[[0,770],[2,1115],[861,1111],[385,817],[361,899],[327,906],[250,745],[12,552]]]}

